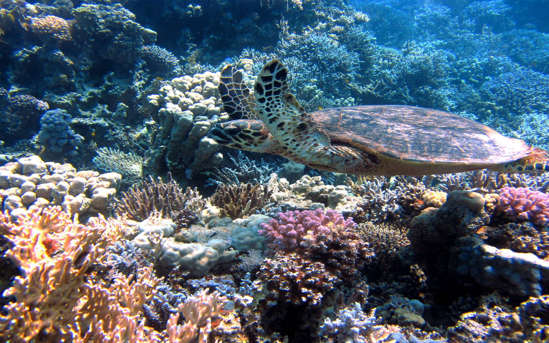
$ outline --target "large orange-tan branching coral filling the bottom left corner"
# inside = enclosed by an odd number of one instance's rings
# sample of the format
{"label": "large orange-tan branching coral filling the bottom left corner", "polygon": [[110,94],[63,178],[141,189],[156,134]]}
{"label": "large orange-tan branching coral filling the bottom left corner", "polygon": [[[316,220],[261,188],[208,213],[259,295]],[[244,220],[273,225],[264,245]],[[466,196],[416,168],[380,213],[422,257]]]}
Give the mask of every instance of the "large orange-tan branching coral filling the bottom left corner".
{"label": "large orange-tan branching coral filling the bottom left corner", "polygon": [[[88,268],[106,257],[123,225],[124,218],[99,217],[84,226],[59,206],[27,211],[15,223],[0,216],[0,231],[10,244],[5,256],[21,272],[4,293],[15,301],[0,317],[2,339],[29,341],[40,334],[44,341],[58,341],[85,333],[107,338],[135,328],[138,311],[160,282],[152,266],[139,269],[134,283],[123,275],[109,289],[86,282]],[[52,255],[58,248],[60,254]]]}

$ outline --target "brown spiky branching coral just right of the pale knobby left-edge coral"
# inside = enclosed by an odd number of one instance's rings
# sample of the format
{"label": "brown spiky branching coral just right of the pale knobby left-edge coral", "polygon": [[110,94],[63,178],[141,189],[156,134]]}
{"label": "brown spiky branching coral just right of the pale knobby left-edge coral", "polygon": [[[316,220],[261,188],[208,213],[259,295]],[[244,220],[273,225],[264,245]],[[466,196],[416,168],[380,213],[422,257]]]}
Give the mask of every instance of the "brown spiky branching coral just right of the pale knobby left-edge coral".
{"label": "brown spiky branching coral just right of the pale knobby left-edge coral", "polygon": [[[201,200],[202,196],[198,194],[198,190],[187,187],[183,193],[183,190],[171,179],[171,174],[168,174],[166,183],[160,178],[154,181],[149,176],[149,181],[133,185],[128,192],[122,192],[122,195],[116,212],[119,215],[127,213],[128,218],[137,221],[147,219],[153,211],[158,211],[165,217],[174,216],[175,220],[180,220],[183,218],[180,218],[182,214],[178,212],[201,211],[204,207],[204,200]],[[191,213],[183,214],[191,215]]]}

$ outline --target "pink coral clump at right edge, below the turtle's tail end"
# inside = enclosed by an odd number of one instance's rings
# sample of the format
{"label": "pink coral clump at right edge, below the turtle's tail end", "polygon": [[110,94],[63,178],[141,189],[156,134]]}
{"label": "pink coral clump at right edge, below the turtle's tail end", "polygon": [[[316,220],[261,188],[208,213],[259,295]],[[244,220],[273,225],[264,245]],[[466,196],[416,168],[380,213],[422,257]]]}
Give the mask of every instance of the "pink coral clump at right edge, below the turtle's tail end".
{"label": "pink coral clump at right edge, below the turtle's tail end", "polygon": [[524,187],[503,187],[498,209],[512,220],[528,220],[538,225],[549,223],[549,194]]}

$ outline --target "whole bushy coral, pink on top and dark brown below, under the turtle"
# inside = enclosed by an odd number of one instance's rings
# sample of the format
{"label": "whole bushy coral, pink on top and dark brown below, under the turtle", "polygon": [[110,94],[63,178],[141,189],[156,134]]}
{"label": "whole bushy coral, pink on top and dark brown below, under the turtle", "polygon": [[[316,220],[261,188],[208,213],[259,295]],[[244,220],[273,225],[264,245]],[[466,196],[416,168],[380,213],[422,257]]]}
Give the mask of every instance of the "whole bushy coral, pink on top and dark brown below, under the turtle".
{"label": "whole bushy coral, pink on top and dark brown below, under the turtle", "polygon": [[[335,211],[289,211],[262,223],[267,255],[260,278],[272,295],[315,304],[336,284],[350,283],[372,257],[356,224]],[[299,291],[301,289],[301,291]]]}

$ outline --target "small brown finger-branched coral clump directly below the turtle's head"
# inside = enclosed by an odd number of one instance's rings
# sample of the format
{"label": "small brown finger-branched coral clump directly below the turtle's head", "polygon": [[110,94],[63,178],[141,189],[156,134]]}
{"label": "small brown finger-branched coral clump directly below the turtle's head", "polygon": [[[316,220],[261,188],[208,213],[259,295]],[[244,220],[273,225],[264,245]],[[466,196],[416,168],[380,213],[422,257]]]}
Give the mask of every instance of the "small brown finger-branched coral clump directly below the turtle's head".
{"label": "small brown finger-branched coral clump directly below the turtle's head", "polygon": [[222,217],[231,217],[232,220],[255,214],[268,204],[272,190],[257,183],[256,185],[225,184],[218,185],[210,203],[220,209]]}

